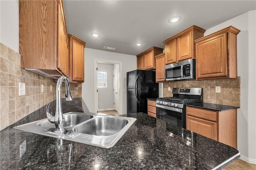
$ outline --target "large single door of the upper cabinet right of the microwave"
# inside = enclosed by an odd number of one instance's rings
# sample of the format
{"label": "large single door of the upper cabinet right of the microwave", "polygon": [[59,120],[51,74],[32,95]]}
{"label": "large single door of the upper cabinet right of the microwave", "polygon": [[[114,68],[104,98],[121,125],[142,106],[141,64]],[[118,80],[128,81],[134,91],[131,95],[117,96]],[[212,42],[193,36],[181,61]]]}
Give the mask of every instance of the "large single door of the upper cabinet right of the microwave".
{"label": "large single door of the upper cabinet right of the microwave", "polygon": [[226,33],[196,43],[197,79],[228,76]]}

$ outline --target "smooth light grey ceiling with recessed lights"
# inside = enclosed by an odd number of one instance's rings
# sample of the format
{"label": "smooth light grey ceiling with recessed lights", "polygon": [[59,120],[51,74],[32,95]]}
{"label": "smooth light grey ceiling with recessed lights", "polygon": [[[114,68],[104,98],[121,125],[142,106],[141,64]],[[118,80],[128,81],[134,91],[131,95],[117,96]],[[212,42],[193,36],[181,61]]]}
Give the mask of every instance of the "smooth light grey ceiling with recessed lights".
{"label": "smooth light grey ceiling with recessed lights", "polygon": [[[164,48],[164,40],[192,25],[207,30],[256,10],[255,0],[64,0],[63,4],[68,33],[85,41],[87,48],[130,55],[153,46]],[[172,16],[182,19],[169,23]],[[92,37],[93,32],[100,37]],[[138,42],[142,45],[136,46]]]}

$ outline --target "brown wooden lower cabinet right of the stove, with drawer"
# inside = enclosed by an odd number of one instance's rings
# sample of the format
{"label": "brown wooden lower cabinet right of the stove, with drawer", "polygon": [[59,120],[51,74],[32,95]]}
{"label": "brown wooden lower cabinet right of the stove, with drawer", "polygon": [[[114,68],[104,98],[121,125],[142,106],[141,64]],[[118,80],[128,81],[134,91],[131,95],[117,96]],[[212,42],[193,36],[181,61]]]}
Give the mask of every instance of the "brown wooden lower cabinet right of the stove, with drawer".
{"label": "brown wooden lower cabinet right of the stove, with drawer", "polygon": [[237,109],[186,107],[186,129],[237,148]]}

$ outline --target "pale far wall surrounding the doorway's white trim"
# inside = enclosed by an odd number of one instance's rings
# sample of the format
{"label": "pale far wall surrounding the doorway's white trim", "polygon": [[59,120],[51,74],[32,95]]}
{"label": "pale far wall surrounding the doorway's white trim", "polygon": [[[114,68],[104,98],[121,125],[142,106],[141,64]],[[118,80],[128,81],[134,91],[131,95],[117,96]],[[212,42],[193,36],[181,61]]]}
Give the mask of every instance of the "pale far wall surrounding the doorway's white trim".
{"label": "pale far wall surrounding the doorway's white trim", "polygon": [[[84,49],[84,83],[82,83],[82,98],[90,112],[94,111],[94,59],[105,59],[122,62],[123,84],[123,110],[120,114],[126,114],[126,72],[137,69],[135,55],[113,53],[96,49]],[[121,93],[121,92],[120,92]]]}

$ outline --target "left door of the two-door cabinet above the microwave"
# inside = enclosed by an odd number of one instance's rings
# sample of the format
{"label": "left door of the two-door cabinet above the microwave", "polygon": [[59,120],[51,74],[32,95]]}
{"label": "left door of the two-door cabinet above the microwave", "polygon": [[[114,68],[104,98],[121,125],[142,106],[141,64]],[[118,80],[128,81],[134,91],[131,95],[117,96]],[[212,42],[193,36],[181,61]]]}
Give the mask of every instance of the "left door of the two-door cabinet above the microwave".
{"label": "left door of the two-door cabinet above the microwave", "polygon": [[176,39],[165,44],[165,64],[176,63]]}

